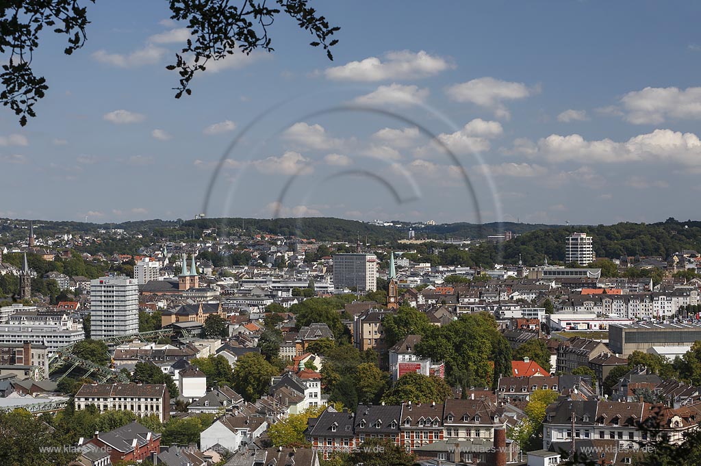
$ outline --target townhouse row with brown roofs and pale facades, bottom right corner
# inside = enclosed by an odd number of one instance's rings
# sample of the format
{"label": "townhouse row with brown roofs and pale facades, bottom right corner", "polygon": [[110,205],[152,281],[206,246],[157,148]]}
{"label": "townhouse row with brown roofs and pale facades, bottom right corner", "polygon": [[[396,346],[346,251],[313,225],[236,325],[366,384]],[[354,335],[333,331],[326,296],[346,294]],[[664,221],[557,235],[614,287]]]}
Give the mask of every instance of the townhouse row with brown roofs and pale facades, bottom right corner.
{"label": "townhouse row with brown roofs and pale facades, bottom right corner", "polygon": [[653,434],[641,425],[657,425],[673,444],[683,441],[683,434],[697,428],[701,404],[669,408],[644,402],[562,399],[547,407],[543,421],[543,448],[573,439],[609,439],[621,448],[637,448],[639,442],[651,441]]}

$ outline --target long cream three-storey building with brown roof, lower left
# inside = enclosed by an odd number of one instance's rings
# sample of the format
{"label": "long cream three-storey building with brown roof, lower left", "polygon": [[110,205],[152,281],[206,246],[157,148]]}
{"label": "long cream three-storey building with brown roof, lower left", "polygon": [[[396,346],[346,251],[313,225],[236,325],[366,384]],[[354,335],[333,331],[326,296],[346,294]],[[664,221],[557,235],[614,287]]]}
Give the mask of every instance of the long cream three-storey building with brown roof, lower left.
{"label": "long cream three-storey building with brown roof, lower left", "polygon": [[76,409],[94,404],[98,411],[131,411],[137,416],[158,416],[165,423],[170,417],[170,398],[165,384],[92,383],[83,384],[74,397]]}

